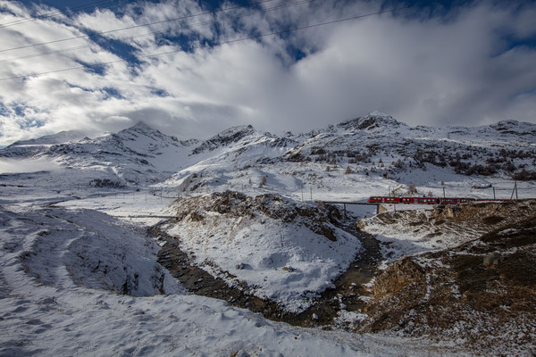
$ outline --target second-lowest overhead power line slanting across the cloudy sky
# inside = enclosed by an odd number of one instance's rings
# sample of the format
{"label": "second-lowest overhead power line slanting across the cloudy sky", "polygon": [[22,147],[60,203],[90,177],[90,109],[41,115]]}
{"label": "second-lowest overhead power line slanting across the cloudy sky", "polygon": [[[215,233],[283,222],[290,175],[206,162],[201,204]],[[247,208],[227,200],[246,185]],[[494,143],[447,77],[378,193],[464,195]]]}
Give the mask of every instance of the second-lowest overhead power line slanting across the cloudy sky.
{"label": "second-lowest overhead power line slanting across the cloudy sky", "polygon": [[[272,1],[272,0],[269,0],[269,1]],[[265,13],[265,12],[272,12],[272,11],[275,11],[275,10],[281,10],[283,8],[288,8],[288,7],[296,6],[296,5],[299,5],[299,4],[310,3],[311,1],[313,1],[313,0],[301,0],[301,1],[297,1],[296,3],[280,4],[280,5],[271,7],[271,8],[266,8],[266,9],[262,9],[262,10],[256,10],[256,11],[253,11],[253,12],[241,13],[239,15],[233,15],[233,16],[229,16],[229,17],[214,20],[214,21],[198,22],[198,23],[189,24],[189,25],[185,25],[185,26],[174,27],[174,28],[171,28],[171,29],[164,29],[164,30],[161,30],[161,31],[151,31],[151,32],[147,32],[147,33],[144,33],[144,34],[139,34],[139,35],[134,35],[134,36],[129,36],[129,37],[119,37],[119,38],[113,38],[113,39],[117,40],[117,41],[124,41],[124,40],[130,40],[130,39],[141,38],[141,37],[149,37],[149,36],[153,36],[153,35],[157,35],[157,34],[165,34],[165,33],[173,32],[173,31],[181,30],[181,29],[193,29],[193,28],[197,28],[197,27],[200,27],[200,26],[212,25],[212,24],[215,24],[215,23],[220,23],[220,22],[223,22],[223,21],[237,20],[237,19],[241,19],[241,18],[244,18],[244,17],[247,17],[247,16],[253,16],[253,15],[258,14],[258,13]],[[229,10],[229,9],[225,9],[225,10]],[[192,16],[197,16],[197,15],[192,15]],[[90,36],[93,36],[93,35],[89,35],[89,36],[86,36],[86,37],[90,37]],[[77,38],[80,38],[80,37],[77,37]],[[28,55],[24,55],[24,56],[7,58],[7,59],[4,59],[4,60],[0,60],[0,62],[4,62],[4,63],[5,62],[14,62],[14,61],[18,61],[18,60],[25,60],[25,59],[29,59],[29,58],[41,57],[41,56],[45,56],[45,55],[48,55],[48,54],[63,54],[65,52],[71,52],[71,51],[80,50],[80,49],[84,49],[84,48],[91,48],[91,47],[96,48],[98,46],[96,46],[96,45],[75,46],[75,47],[63,48],[63,49],[60,49],[60,50],[54,50],[54,51],[50,51],[50,52],[43,52],[43,53],[38,53],[38,54],[28,54]]]}

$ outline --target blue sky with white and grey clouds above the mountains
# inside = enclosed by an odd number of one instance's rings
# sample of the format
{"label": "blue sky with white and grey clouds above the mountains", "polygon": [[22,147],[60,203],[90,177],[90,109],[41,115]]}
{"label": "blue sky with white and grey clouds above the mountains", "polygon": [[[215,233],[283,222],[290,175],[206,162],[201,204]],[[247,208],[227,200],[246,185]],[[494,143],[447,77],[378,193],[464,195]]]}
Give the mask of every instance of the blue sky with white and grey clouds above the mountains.
{"label": "blue sky with white and grey clouds above the mountains", "polygon": [[536,2],[0,0],[0,145],[163,133],[536,123]]}

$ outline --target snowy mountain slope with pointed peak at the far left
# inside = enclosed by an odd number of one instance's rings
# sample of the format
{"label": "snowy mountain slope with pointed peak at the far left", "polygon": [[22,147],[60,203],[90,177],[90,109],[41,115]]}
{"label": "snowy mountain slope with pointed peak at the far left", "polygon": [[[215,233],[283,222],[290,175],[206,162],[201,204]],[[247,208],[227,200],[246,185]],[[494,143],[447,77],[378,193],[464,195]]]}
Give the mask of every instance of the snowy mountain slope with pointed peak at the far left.
{"label": "snowy mountain slope with pointed peak at the far left", "polygon": [[[0,157],[50,162],[73,173],[76,171],[71,179],[83,176],[84,179],[108,179],[121,186],[145,186],[162,181],[178,170],[182,158],[188,155],[188,146],[195,143],[196,140],[179,141],[176,137],[165,136],[139,122],[117,134],[95,139],[86,137],[76,143],[11,145],[0,151]],[[85,174],[80,175],[80,172]]]}

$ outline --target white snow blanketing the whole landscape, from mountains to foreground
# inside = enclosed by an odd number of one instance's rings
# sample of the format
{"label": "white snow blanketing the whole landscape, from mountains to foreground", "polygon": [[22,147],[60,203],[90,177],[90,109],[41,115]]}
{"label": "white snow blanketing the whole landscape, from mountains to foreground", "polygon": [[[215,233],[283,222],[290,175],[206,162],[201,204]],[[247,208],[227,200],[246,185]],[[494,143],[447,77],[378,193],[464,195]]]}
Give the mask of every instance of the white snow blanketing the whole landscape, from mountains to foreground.
{"label": "white snow blanketing the whole landscape, from mountains to foreground", "polygon": [[[492,190],[472,187],[491,184],[498,197],[509,198],[514,181],[504,170],[465,176],[448,166],[419,165],[415,153],[467,154],[464,160],[476,164],[498,157],[500,149],[534,150],[536,142],[532,124],[514,121],[410,128],[373,112],[343,124],[285,137],[239,127],[204,142],[182,142],[139,123],[95,139],[63,133],[1,150],[7,165],[0,167],[9,170],[0,174],[0,355],[470,355],[448,342],[265,320],[189,295],[157,262],[159,246],[146,229],[176,215],[180,198],[231,190],[278,195],[289,204],[363,203],[394,189],[404,193],[410,183],[419,195],[441,196],[445,189],[449,196],[483,198],[492,198]],[[339,153],[335,162],[313,154],[319,148]],[[348,152],[370,160],[350,162]],[[305,159],[288,160],[297,154]],[[398,160],[403,168],[395,170]],[[534,170],[534,158],[512,162]],[[96,187],[96,179],[110,186]],[[518,194],[533,196],[534,188],[518,183]],[[374,210],[347,205],[354,218],[371,217]],[[181,247],[198,266],[214,275],[228,271],[252,294],[289,311],[306,308],[361,249],[355,237],[334,227],[333,242],[299,221],[262,214],[222,220],[210,212],[206,219],[211,224],[205,227],[164,228],[182,237]],[[440,241],[426,237],[432,230],[415,234],[402,225],[371,223],[366,229],[381,240],[388,259],[456,242],[453,234]],[[335,322],[362,318],[343,310]]]}

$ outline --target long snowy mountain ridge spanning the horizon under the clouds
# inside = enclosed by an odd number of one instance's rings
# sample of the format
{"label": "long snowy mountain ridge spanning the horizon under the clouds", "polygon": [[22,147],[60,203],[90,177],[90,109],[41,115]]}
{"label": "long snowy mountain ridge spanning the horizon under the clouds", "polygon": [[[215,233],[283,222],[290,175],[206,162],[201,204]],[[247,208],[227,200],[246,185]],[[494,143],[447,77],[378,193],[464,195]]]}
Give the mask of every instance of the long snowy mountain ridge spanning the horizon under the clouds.
{"label": "long snowy mountain ridge spanning the horizon under the clouds", "polygon": [[[69,137],[59,134],[34,142]],[[536,125],[532,123],[502,120],[476,128],[409,127],[387,114],[371,112],[306,134],[286,133],[280,137],[241,125],[204,141],[180,141],[139,121],[94,139],[10,145],[0,150],[0,157],[46,159],[80,170],[93,168],[123,185],[155,184],[201,171],[235,177],[239,172],[246,174],[250,167],[259,172],[278,167],[278,176],[281,172],[289,175],[279,169],[278,162],[307,164],[315,171],[321,170],[318,165],[322,164],[341,165],[361,174],[373,171],[384,179],[399,181],[409,179],[414,170],[431,167],[466,176],[511,177],[522,170],[530,174],[536,166],[534,142]]]}

